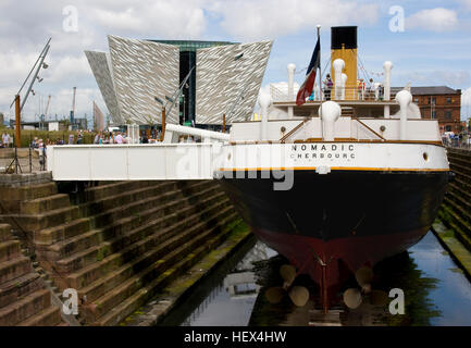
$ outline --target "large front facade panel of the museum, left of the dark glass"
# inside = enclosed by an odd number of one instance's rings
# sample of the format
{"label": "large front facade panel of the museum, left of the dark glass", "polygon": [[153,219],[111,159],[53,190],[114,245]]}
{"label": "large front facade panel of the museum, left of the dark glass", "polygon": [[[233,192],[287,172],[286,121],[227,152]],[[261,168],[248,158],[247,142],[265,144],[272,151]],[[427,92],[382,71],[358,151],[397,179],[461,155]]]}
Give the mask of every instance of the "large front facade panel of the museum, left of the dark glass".
{"label": "large front facade panel of the museum, left of the dark glass", "polygon": [[[161,123],[162,105],[179,87],[179,49],[173,45],[109,36],[114,88],[125,123]],[[178,123],[178,105],[166,114]]]}

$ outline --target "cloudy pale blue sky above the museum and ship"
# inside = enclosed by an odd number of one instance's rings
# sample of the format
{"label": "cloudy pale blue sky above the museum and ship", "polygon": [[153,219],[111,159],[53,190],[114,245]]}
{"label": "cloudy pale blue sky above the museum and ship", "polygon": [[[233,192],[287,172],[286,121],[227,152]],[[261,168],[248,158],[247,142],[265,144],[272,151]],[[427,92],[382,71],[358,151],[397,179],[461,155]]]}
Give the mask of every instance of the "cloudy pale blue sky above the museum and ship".
{"label": "cloudy pale blue sky above the museum and ship", "polygon": [[84,50],[108,51],[107,35],[136,39],[252,42],[274,40],[262,82],[302,83],[321,25],[321,65],[330,60],[331,26],[358,25],[358,55],[375,80],[394,63],[393,86],[461,89],[461,119],[471,116],[471,0],[0,0],[0,112],[10,104],[49,37],[49,69],[40,72],[23,117],[90,119],[92,101],[108,112]]}

